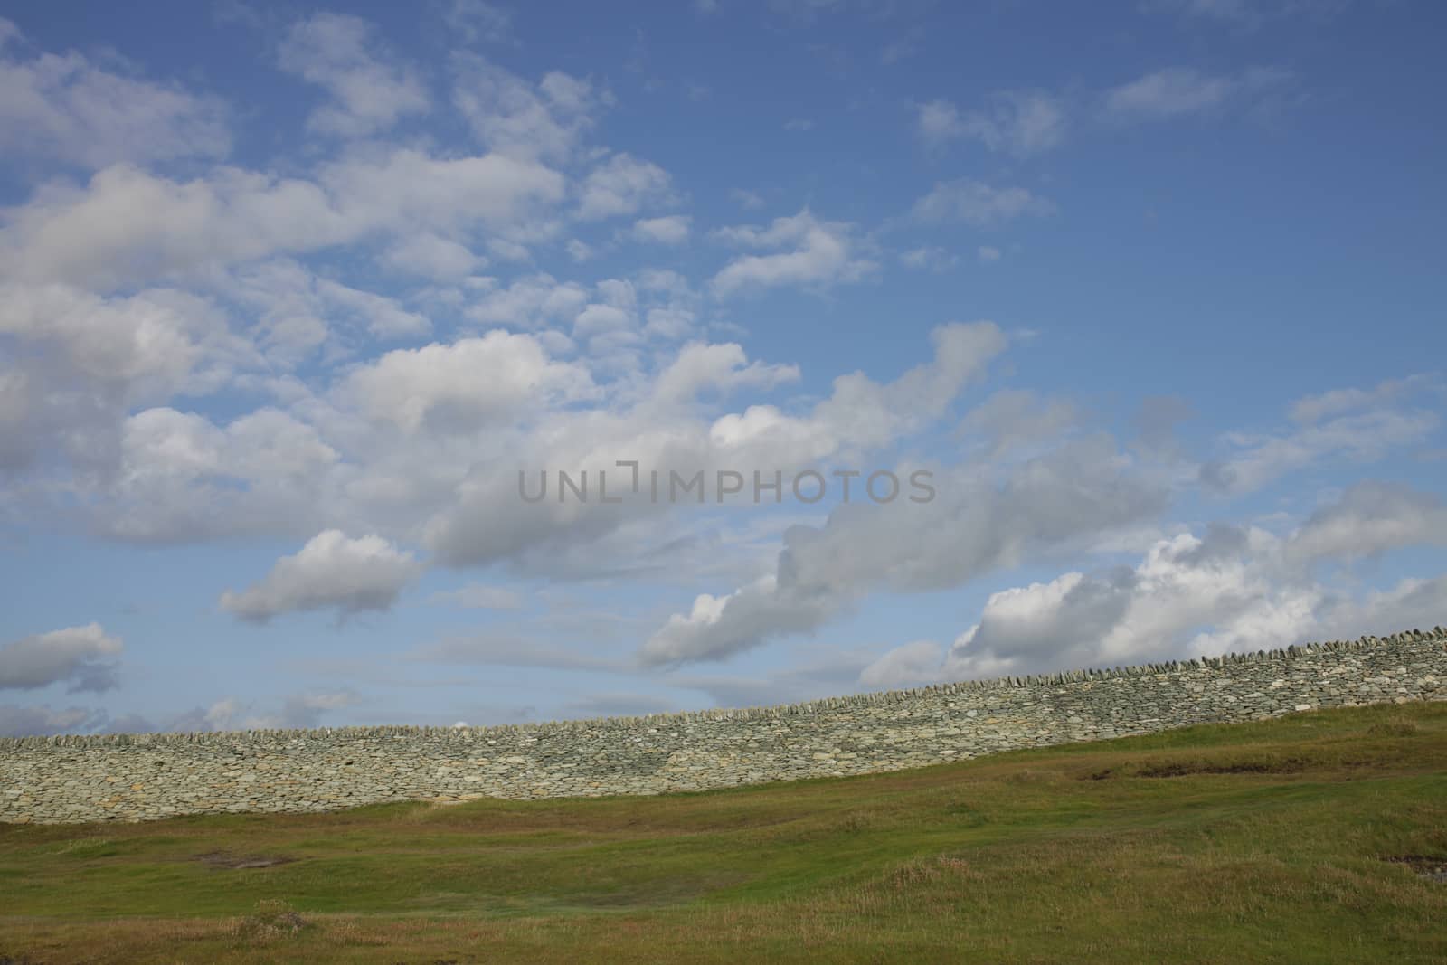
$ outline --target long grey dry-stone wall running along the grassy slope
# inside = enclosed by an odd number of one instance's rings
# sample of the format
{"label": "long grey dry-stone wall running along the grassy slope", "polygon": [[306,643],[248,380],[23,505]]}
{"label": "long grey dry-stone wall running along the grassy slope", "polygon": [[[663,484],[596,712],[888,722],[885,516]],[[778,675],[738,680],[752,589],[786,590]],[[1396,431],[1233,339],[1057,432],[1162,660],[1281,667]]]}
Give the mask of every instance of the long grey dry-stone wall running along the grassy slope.
{"label": "long grey dry-stone wall running along the grassy slope", "polygon": [[0,741],[0,822],[655,794],[1392,700],[1447,700],[1441,626],[748,710],[498,728],[10,738]]}

